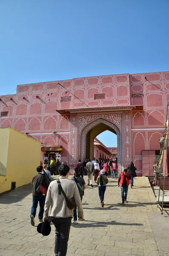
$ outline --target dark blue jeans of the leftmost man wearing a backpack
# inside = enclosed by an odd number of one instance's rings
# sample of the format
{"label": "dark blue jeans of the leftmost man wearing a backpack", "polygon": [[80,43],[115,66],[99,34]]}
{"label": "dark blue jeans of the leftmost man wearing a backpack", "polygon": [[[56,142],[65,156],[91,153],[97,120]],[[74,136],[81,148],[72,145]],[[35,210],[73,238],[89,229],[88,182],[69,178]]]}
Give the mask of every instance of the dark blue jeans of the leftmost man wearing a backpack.
{"label": "dark blue jeans of the leftmost man wearing a backpack", "polygon": [[31,216],[36,216],[37,204],[39,202],[39,215],[38,218],[41,220],[43,218],[44,205],[45,205],[46,196],[43,195],[32,195],[32,208],[31,208]]}

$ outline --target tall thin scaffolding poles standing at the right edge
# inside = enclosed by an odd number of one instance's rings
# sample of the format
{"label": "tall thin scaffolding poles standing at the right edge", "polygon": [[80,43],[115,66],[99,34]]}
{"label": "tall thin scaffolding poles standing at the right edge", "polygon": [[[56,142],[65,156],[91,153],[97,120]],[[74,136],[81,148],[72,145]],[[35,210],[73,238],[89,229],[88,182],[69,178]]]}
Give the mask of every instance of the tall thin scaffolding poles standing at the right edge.
{"label": "tall thin scaffolding poles standing at the right edge", "polygon": [[[169,102],[167,103],[167,109],[166,109],[166,125],[165,125],[165,140],[163,143],[163,149],[162,149],[162,154],[160,157],[160,162],[159,162],[159,169],[161,167],[161,173],[160,173],[160,183],[159,183],[159,193],[158,193],[158,207],[161,210],[161,214],[163,214],[163,204],[164,204],[164,190],[165,190],[165,181],[166,181],[166,170],[167,170],[167,153],[168,153],[168,136],[169,136]],[[165,162],[165,170],[164,170],[164,182],[163,182],[163,199],[162,199],[162,204],[159,204],[159,198],[160,198],[160,186],[161,186],[161,178],[163,175],[163,158],[164,158],[164,150],[166,150],[166,162]],[[169,206],[169,204],[165,204],[166,206]]]}

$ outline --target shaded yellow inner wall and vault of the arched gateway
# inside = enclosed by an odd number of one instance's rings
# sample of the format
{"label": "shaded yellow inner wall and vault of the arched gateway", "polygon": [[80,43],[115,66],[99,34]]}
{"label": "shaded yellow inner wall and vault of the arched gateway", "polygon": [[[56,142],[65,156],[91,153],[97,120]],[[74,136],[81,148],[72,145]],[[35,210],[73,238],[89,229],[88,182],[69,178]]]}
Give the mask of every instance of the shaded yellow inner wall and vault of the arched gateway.
{"label": "shaded yellow inner wall and vault of the arched gateway", "polygon": [[116,132],[111,127],[105,124],[97,125],[94,128],[92,128],[92,130],[90,131],[90,159],[91,160],[93,159],[94,139],[98,134],[106,130],[112,131],[113,133],[116,134]]}

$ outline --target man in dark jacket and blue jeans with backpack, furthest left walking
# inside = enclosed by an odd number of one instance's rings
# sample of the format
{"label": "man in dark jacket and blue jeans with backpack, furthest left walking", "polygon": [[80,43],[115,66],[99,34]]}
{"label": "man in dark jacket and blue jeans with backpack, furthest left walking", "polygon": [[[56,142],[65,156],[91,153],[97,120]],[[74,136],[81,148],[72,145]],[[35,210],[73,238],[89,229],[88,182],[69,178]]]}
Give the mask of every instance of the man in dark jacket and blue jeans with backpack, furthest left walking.
{"label": "man in dark jacket and blue jeans with backpack, furthest left walking", "polygon": [[34,217],[36,216],[36,209],[37,204],[39,202],[39,221],[43,221],[43,212],[44,212],[44,205],[45,205],[45,199],[46,195],[43,195],[41,192],[41,195],[37,194],[37,188],[40,186],[44,186],[44,188],[48,189],[49,187],[49,180],[47,179],[45,174],[42,174],[43,172],[43,166],[37,166],[37,174],[34,175],[32,179],[32,208],[31,208],[31,225],[34,226]]}

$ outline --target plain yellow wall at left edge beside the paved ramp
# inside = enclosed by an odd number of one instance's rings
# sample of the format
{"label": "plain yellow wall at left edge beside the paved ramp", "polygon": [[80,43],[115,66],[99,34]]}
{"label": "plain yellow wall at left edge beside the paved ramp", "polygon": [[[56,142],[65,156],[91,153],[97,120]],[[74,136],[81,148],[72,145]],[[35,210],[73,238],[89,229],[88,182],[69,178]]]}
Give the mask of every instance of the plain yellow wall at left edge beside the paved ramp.
{"label": "plain yellow wall at left edge beside the paved ramp", "polygon": [[5,129],[10,131],[9,147],[6,176],[0,176],[0,193],[10,190],[12,181],[16,181],[16,187],[30,183],[37,173],[36,168],[40,165],[41,154],[39,141],[12,128]]}

